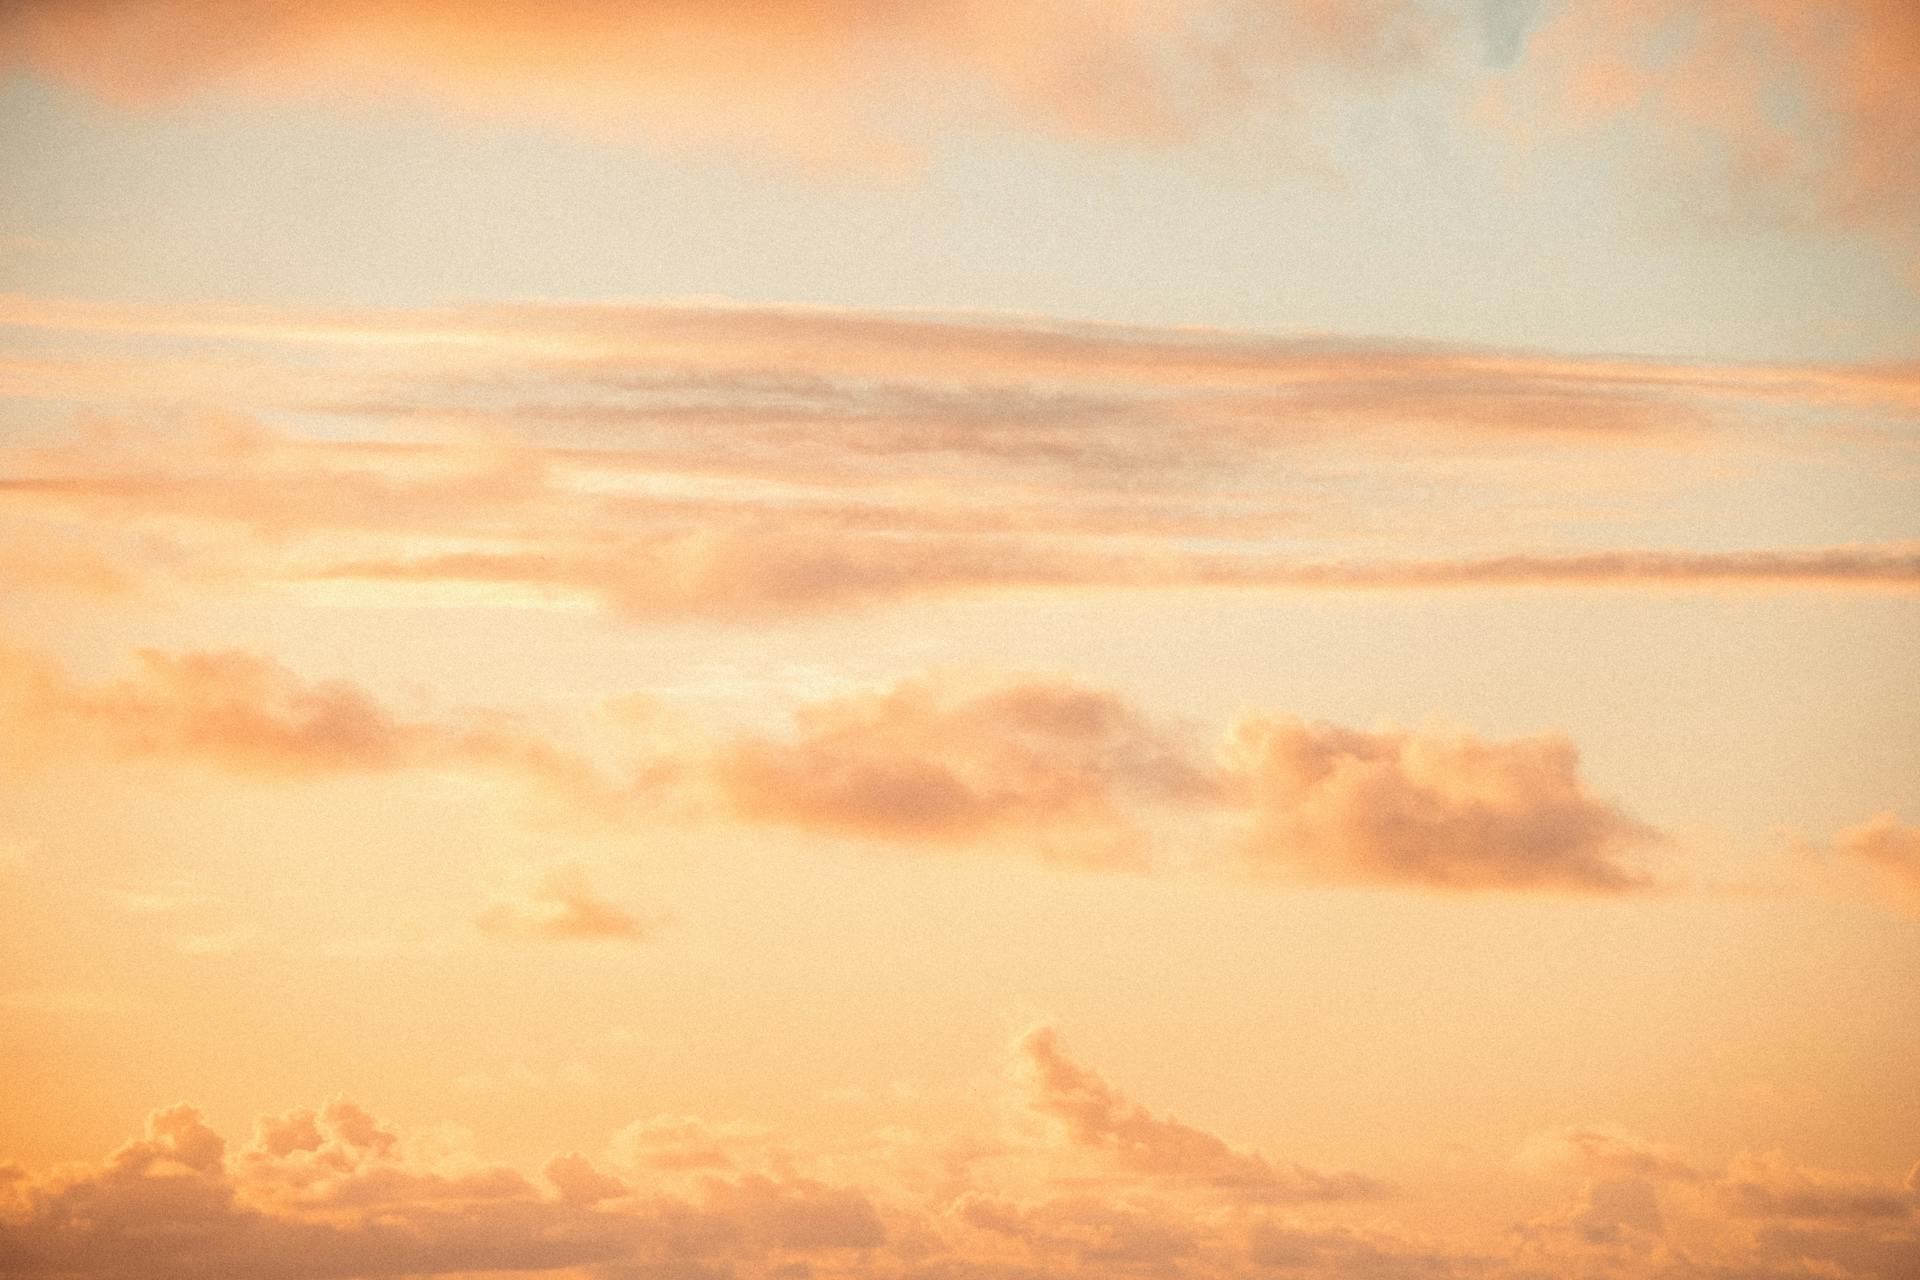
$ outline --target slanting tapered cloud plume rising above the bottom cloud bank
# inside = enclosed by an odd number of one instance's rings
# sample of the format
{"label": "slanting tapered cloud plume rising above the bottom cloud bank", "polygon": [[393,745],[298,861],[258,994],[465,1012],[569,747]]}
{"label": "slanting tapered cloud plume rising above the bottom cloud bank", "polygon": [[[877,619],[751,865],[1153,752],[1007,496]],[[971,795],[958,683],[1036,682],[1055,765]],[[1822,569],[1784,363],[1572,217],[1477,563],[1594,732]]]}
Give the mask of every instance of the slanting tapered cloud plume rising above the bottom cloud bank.
{"label": "slanting tapered cloud plume rising above the bottom cloud bank", "polygon": [[1154,1115],[1068,1057],[1052,1027],[1035,1027],[1016,1048],[1027,1105],[1054,1121],[1069,1144],[1104,1155],[1127,1173],[1248,1203],[1356,1199],[1386,1192],[1380,1182],[1352,1173],[1277,1165],[1260,1153],[1236,1151],[1210,1132]]}

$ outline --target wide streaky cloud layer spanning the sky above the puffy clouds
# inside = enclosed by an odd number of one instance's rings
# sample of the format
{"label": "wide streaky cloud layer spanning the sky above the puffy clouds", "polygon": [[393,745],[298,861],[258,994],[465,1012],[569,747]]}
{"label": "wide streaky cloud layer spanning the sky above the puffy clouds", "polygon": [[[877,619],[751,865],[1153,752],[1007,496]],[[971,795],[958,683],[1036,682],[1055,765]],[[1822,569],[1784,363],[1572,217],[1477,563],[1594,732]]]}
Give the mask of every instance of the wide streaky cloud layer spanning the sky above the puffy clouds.
{"label": "wide streaky cloud layer spanning the sky above the puffy clouds", "polygon": [[[36,591],[770,622],[1037,589],[1920,585],[1887,539],[1908,365],[670,305],[0,319],[33,338],[0,395],[35,424],[0,449],[0,562]],[[1672,514],[1807,466],[1859,501],[1761,541]]]}

